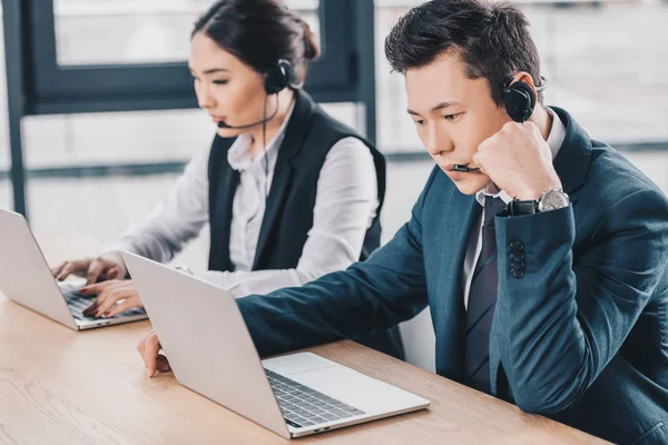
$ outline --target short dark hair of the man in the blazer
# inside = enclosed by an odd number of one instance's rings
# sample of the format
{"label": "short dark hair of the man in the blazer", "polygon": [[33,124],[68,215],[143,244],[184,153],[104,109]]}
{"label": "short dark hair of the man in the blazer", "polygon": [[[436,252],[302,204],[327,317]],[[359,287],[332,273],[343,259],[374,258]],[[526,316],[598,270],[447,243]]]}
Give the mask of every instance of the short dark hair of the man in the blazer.
{"label": "short dark hair of the man in the blazer", "polygon": [[[540,86],[540,59],[524,14],[509,3],[432,0],[411,9],[385,39],[394,71],[421,68],[443,53],[459,56],[470,79],[487,79],[503,105],[503,83],[527,71]],[[539,93],[542,101],[542,93]]]}

